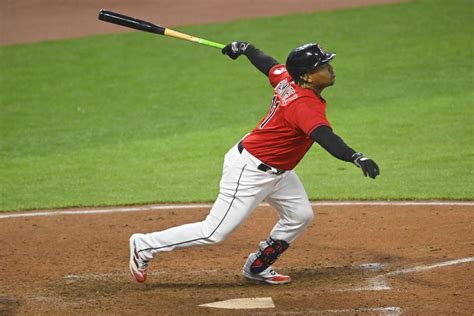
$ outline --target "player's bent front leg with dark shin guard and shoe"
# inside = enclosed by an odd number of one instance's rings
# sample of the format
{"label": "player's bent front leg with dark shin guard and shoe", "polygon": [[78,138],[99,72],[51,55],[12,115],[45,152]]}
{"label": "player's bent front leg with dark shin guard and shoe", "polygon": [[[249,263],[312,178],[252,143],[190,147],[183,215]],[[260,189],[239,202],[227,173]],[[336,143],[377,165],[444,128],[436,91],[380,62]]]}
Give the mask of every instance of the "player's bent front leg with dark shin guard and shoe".
{"label": "player's bent front leg with dark shin guard and shoe", "polygon": [[313,210],[304,187],[294,171],[285,174],[266,199],[280,219],[259,250],[251,253],[243,268],[248,279],[272,284],[288,283],[290,277],[276,273],[271,265],[288,249],[313,219]]}

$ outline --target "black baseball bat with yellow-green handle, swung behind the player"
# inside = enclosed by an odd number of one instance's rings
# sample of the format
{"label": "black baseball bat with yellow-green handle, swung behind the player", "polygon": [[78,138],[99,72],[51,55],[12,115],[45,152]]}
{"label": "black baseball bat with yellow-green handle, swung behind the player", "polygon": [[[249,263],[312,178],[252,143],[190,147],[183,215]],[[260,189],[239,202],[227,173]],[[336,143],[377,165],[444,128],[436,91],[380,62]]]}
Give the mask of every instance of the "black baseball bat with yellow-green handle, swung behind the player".
{"label": "black baseball bat with yellow-green handle, swung behind the player", "polygon": [[156,25],[147,21],[132,18],[130,16],[126,16],[120,13],[107,11],[104,9],[99,11],[99,20],[113,23],[113,24],[122,25],[125,27],[129,27],[129,28],[144,31],[144,32],[150,32],[150,33],[155,33],[159,35],[175,37],[182,40],[191,41],[191,42],[195,42],[198,44],[203,44],[203,45],[207,45],[207,46],[211,46],[211,47],[215,47],[219,49],[222,49],[225,46],[220,43],[216,43],[216,42],[212,42],[203,38],[180,33],[172,29],[169,29],[167,27],[163,27],[163,26]]}

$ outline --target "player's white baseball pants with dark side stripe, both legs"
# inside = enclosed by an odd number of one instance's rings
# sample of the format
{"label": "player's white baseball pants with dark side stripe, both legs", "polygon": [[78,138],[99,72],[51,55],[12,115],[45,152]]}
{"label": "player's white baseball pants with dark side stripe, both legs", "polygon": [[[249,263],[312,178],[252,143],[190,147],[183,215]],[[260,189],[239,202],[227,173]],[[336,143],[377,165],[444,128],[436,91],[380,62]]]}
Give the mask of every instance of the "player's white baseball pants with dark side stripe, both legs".
{"label": "player's white baseball pants with dark side stripe, both legs", "polygon": [[237,145],[232,147],[225,155],[219,195],[206,219],[137,238],[140,255],[152,259],[161,251],[222,242],[264,200],[280,216],[270,237],[295,240],[313,219],[304,187],[293,170],[271,174],[257,169],[260,163],[245,149],[240,153]]}

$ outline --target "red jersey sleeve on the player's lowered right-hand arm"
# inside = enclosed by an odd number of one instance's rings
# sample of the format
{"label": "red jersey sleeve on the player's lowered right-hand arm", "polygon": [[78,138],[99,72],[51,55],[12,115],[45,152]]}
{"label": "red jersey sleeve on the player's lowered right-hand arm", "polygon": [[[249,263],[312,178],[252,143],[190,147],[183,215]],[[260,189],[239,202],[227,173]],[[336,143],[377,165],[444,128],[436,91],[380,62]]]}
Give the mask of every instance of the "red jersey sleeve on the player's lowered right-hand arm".
{"label": "red jersey sleeve on the player's lowered right-hand arm", "polygon": [[326,106],[322,103],[299,102],[293,104],[292,110],[287,113],[287,120],[308,137],[322,125],[331,127],[326,117]]}

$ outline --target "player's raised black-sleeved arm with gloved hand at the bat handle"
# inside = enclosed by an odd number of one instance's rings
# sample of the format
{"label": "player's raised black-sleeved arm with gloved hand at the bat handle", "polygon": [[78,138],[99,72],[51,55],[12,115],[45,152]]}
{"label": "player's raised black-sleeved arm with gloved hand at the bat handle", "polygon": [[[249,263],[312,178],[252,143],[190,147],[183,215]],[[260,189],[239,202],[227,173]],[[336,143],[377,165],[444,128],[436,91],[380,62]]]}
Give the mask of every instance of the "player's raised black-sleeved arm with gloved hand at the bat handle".
{"label": "player's raised black-sleeved arm with gloved hand at the bat handle", "polygon": [[228,55],[232,59],[237,59],[240,55],[247,56],[255,68],[265,76],[268,76],[268,72],[273,66],[279,64],[273,57],[266,55],[247,42],[232,42],[222,49],[222,54]]}

